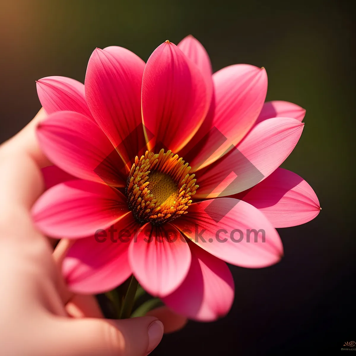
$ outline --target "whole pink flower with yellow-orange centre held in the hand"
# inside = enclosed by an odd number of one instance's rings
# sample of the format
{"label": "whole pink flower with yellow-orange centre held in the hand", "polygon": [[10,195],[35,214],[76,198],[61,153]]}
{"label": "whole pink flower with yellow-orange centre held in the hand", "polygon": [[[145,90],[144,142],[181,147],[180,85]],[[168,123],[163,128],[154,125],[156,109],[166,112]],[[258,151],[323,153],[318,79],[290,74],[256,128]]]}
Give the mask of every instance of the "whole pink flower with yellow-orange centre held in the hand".
{"label": "whole pink flower with yellow-orange centre held in the hand", "polygon": [[283,255],[275,227],[319,213],[309,184],[278,168],[305,110],[264,103],[264,68],[212,75],[192,36],[164,42],[146,64],[121,47],[97,48],[84,85],[47,77],[37,91],[49,114],[37,136],[55,166],[33,217],[48,236],[77,239],[63,263],[75,292],[108,291],[133,273],[177,313],[215,320],[234,298],[225,262],[273,265]]}

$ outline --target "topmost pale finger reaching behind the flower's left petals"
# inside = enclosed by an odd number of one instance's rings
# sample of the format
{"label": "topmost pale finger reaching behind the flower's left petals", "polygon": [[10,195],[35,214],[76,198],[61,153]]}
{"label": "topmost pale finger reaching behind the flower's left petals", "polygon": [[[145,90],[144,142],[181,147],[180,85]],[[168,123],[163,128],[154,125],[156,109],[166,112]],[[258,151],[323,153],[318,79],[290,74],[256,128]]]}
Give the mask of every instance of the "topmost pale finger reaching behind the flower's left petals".
{"label": "topmost pale finger reaching behind the flower's left petals", "polygon": [[49,166],[51,162],[40,150],[36,137],[36,127],[46,117],[47,114],[42,108],[20,132],[1,146],[2,153],[6,156],[12,156],[14,153],[26,153],[36,162],[38,167]]}

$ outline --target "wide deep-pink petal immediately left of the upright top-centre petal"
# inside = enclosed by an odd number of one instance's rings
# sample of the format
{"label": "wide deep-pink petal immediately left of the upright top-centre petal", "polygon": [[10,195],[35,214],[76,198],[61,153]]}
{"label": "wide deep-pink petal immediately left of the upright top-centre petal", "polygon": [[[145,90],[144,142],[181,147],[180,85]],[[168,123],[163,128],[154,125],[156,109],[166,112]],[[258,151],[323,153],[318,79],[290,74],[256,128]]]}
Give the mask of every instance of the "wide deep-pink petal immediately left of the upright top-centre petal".
{"label": "wide deep-pink petal immediately left of the upright top-centre petal", "polygon": [[112,46],[95,49],[85,75],[90,111],[126,163],[146,145],[141,116],[144,69],[145,62],[136,54]]}

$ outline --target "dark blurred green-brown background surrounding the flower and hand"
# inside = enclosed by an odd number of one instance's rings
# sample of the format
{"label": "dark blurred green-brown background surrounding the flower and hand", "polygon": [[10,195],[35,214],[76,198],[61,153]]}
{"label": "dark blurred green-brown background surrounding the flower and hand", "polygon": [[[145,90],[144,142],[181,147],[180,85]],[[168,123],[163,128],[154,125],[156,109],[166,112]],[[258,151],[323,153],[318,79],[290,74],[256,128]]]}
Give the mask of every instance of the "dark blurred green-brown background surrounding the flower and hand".
{"label": "dark blurred green-brown background surrounding the flower and hand", "polygon": [[323,210],[279,229],[275,266],[230,266],[236,297],[215,323],[190,321],[152,355],[300,355],[340,352],[356,341],[355,51],[351,1],[0,0],[0,143],[40,109],[35,80],[84,82],[95,47],[119,45],[145,61],[169,39],[192,34],[214,71],[265,67],[267,100],[307,109],[283,163],[314,188]]}

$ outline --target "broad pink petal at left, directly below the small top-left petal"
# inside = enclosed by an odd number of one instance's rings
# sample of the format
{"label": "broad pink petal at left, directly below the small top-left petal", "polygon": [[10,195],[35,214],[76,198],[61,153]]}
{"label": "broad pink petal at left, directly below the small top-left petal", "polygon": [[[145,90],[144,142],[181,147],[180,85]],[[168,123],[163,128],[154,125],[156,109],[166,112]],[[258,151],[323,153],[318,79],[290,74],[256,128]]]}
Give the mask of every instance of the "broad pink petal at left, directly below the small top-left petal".
{"label": "broad pink petal at left, directly below the small top-left petal", "polygon": [[73,111],[48,116],[37,127],[42,151],[59,168],[75,177],[125,185],[124,164],[100,127]]}

